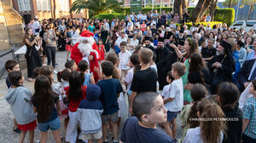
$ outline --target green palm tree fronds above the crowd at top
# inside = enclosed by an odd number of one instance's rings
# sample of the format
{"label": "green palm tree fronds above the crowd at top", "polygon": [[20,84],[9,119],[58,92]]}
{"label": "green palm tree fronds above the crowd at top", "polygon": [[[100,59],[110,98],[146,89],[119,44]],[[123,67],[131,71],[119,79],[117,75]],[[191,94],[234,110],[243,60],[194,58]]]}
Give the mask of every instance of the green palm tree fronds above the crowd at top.
{"label": "green palm tree fronds above the crowd at top", "polygon": [[88,0],[87,2],[76,0],[71,6],[70,13],[79,13],[82,9],[89,9],[92,16],[111,12],[119,13],[124,11],[120,4],[117,0]]}

